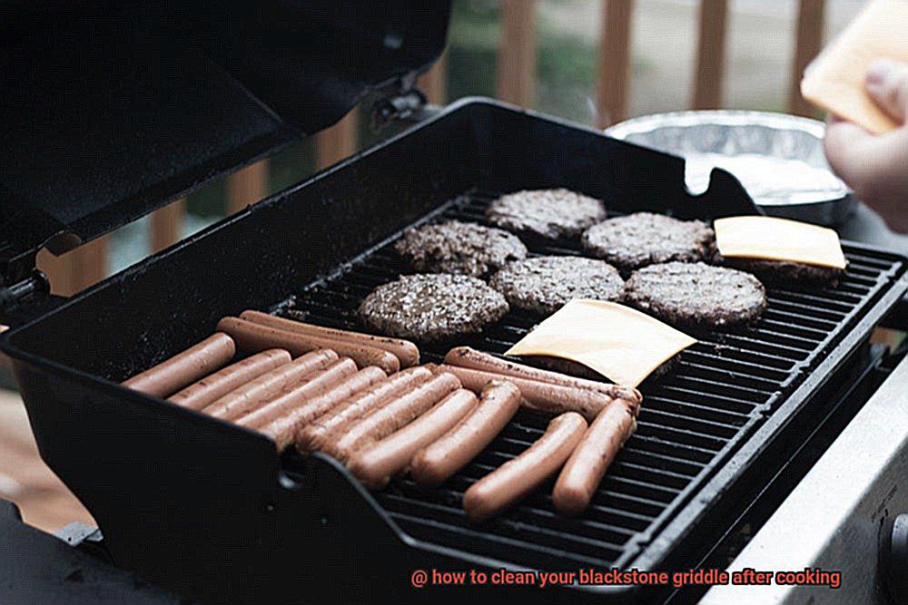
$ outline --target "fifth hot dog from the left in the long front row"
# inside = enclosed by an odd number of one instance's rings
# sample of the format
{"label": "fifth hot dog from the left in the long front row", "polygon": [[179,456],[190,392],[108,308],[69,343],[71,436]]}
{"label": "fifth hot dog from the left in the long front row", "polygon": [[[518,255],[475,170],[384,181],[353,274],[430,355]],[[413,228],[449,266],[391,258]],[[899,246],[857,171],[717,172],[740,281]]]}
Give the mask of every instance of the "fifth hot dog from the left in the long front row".
{"label": "fifth hot dog from the left in the long front row", "polygon": [[324,414],[341,401],[356,395],[361,390],[369,388],[388,376],[378,367],[364,367],[355,375],[345,378],[334,385],[331,390],[317,395],[309,400],[301,401],[300,405],[288,405],[282,415],[275,417],[268,424],[258,424],[262,434],[266,434],[277,444],[279,452],[293,443],[294,435],[302,426]]}

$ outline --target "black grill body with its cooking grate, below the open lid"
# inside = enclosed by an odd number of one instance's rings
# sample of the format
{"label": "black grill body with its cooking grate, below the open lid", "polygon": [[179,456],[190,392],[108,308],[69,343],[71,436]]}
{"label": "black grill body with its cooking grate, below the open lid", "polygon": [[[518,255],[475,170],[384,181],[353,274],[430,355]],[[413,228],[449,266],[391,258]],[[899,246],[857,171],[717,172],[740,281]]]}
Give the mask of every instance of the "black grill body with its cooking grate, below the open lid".
{"label": "black grill body with its cooking grate, below the open lid", "polygon": [[[718,512],[738,506],[723,499],[729,488],[811,427],[814,395],[903,296],[905,259],[847,244],[839,287],[771,289],[757,327],[697,335],[642,387],[637,434],[576,520],[555,516],[545,493],[480,527],[459,513],[469,483],[539,434],[535,415],[518,415],[442,488],[404,480],[372,495],[330,458],[279,459],[261,435],[116,384],[245,308],[353,326],[370,288],[406,271],[388,249],[401,229],[481,220],[493,192],[555,186],[617,212],[754,211],[725,172],[690,196],[671,156],[496,102],[455,103],[5,334],[44,460],[93,512],[118,564],[203,600],[413,596],[415,568],[684,564],[685,547],[721,532]],[[459,344],[501,352],[532,324],[512,313]],[[444,350],[423,347],[427,361]]]}

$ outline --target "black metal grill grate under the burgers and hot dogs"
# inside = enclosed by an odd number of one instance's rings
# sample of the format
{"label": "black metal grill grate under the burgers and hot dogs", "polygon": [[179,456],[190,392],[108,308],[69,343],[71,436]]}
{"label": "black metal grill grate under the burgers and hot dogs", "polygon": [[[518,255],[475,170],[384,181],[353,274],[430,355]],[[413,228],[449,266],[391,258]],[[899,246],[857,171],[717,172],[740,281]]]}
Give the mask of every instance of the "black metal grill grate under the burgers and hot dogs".
{"label": "black metal grill grate under the burgers and hot dogs", "polygon": [[[496,194],[471,191],[426,220],[484,223]],[[578,255],[571,242],[529,246],[532,256]],[[410,535],[510,566],[567,569],[624,566],[641,543],[689,501],[716,467],[756,425],[785,400],[810,369],[844,335],[900,270],[897,259],[845,247],[847,274],[835,288],[770,288],[768,307],[753,327],[698,333],[665,375],[641,386],[643,410],[634,434],[609,468],[592,505],[576,519],[558,515],[551,484],[502,517],[470,525],[460,498],[471,483],[527,448],[548,418],[521,411],[479,457],[439,488],[400,479],[377,494],[380,504]],[[340,273],[291,297],[293,308],[331,327],[357,327],[356,309],[372,288],[410,273],[386,242]],[[512,311],[485,333],[458,344],[502,353],[538,323]],[[448,346],[420,347],[424,361],[439,362]],[[287,464],[301,464],[291,454]]]}

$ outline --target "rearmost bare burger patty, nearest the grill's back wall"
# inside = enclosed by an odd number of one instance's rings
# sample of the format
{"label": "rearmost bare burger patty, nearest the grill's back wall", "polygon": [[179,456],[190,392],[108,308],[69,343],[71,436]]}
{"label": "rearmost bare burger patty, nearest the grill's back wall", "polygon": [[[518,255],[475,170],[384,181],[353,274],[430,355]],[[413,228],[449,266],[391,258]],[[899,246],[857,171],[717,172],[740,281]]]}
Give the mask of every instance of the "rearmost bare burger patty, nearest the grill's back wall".
{"label": "rearmost bare burger patty, nearest the grill's back wall", "polygon": [[567,189],[508,193],[486,210],[486,219],[501,229],[547,240],[577,237],[605,218],[602,200]]}

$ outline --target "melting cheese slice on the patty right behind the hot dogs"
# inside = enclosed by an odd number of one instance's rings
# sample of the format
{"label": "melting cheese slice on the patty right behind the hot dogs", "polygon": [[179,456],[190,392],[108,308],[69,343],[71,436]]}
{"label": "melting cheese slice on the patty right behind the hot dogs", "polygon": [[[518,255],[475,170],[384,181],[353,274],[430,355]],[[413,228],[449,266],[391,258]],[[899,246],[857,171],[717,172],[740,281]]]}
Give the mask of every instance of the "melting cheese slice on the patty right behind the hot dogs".
{"label": "melting cheese slice on the patty right behind the hot dogs", "polygon": [[511,346],[507,355],[570,359],[616,385],[637,386],[695,343],[695,338],[630,307],[575,298]]}

